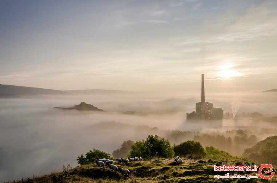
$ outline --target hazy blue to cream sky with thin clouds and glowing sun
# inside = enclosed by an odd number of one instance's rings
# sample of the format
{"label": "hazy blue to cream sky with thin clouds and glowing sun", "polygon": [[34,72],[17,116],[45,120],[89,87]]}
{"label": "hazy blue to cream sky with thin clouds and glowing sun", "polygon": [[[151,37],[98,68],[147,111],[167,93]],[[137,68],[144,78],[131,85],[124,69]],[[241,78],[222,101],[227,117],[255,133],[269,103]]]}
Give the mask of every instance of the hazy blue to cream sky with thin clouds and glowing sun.
{"label": "hazy blue to cream sky with thin clouds and glowing sun", "polygon": [[[0,1],[0,84],[277,88],[277,1]],[[198,90],[197,90],[198,91]]]}

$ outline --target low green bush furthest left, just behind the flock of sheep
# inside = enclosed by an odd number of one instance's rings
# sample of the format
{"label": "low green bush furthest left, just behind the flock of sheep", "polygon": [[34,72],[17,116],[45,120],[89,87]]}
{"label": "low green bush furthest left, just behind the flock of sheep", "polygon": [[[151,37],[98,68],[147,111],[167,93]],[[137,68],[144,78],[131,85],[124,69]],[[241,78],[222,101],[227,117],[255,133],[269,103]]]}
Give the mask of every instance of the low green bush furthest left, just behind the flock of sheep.
{"label": "low green bush furthest left, just behind the flock of sheep", "polygon": [[111,159],[110,154],[100,151],[98,149],[93,149],[87,152],[85,155],[81,154],[81,156],[78,156],[77,162],[80,165],[85,165],[89,163],[94,163],[97,158]]}

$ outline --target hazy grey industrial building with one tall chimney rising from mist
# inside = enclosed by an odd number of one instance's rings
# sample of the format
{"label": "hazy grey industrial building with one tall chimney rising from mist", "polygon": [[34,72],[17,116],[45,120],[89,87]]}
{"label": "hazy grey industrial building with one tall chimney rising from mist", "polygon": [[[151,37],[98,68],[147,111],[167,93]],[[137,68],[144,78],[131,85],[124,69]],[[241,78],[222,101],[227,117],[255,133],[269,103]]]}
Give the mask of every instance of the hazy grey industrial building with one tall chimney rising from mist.
{"label": "hazy grey industrial building with one tall chimney rising from mist", "polygon": [[195,104],[195,111],[187,113],[187,120],[222,120],[223,110],[213,105],[213,103],[205,102],[205,81],[204,74],[202,74],[201,102]]}

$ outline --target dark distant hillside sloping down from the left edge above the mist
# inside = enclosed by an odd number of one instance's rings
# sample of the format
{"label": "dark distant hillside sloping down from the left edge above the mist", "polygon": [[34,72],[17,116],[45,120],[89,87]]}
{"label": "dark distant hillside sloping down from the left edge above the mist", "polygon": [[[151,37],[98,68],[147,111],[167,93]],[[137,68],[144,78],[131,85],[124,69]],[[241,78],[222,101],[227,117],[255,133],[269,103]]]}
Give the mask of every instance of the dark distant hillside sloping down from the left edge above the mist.
{"label": "dark distant hillside sloping down from the left edge above the mist", "polygon": [[70,95],[60,90],[0,84],[0,97],[19,95]]}

